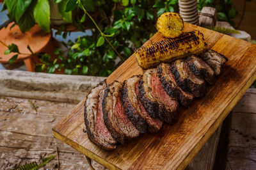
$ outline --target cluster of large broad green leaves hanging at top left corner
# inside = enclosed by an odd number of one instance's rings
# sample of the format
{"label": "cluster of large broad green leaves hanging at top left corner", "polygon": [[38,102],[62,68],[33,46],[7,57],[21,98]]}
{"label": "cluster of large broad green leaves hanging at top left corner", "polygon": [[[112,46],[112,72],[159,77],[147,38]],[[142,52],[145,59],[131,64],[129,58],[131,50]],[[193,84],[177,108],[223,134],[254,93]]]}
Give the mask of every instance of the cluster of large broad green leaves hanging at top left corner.
{"label": "cluster of large broad green leaves hanging at top left corner", "polygon": [[[72,12],[65,12],[68,0],[55,0],[63,20],[72,22]],[[20,27],[22,32],[29,31],[37,23],[45,32],[50,32],[50,4],[48,0],[5,0],[3,10]]]}

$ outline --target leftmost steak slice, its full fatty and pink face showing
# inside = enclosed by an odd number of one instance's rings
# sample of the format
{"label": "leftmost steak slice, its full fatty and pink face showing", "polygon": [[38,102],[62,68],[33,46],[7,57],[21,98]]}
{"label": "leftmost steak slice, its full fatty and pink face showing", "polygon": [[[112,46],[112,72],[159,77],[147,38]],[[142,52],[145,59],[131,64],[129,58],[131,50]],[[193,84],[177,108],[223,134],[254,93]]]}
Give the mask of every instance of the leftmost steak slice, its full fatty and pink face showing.
{"label": "leftmost steak slice, its full fatty and pink face showing", "polygon": [[104,150],[116,148],[116,141],[113,139],[108,128],[104,124],[102,114],[102,98],[106,81],[100,82],[87,95],[84,103],[84,123],[88,138]]}

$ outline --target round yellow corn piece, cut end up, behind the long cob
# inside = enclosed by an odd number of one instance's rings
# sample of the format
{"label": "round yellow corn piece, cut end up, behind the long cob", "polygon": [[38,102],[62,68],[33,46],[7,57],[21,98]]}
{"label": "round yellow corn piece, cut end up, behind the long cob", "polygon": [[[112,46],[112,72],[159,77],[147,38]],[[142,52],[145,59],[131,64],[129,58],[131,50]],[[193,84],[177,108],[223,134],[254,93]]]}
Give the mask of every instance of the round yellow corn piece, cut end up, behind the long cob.
{"label": "round yellow corn piece, cut end up, behind the long cob", "polygon": [[166,38],[174,38],[182,34],[184,21],[179,13],[166,12],[157,19],[156,29]]}

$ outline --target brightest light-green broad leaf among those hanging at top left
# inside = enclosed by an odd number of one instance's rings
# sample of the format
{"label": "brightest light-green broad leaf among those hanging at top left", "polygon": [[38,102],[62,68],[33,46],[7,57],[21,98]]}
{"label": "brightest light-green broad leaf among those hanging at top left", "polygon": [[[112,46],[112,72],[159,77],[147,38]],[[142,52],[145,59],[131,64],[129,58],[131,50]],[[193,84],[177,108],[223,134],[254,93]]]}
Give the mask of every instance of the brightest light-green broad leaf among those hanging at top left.
{"label": "brightest light-green broad leaf among those hanging at top left", "polygon": [[47,33],[50,32],[50,4],[48,0],[38,0],[34,9],[37,24]]}

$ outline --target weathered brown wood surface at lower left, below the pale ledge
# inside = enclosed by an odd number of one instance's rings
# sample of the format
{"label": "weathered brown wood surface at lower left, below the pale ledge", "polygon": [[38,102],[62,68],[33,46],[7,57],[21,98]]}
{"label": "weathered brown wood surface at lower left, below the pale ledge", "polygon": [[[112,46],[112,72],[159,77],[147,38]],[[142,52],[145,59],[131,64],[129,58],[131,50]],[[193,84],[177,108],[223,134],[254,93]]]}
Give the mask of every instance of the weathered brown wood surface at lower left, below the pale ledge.
{"label": "weathered brown wood surface at lower left, below the pale ledge", "polygon": [[[30,101],[30,102],[29,102]],[[37,107],[33,108],[31,102]],[[74,107],[74,104],[0,98],[0,169],[13,169],[41,158],[56,155],[60,169],[90,169],[83,154],[52,135],[51,127]],[[57,158],[45,168],[57,169]],[[93,162],[96,169],[104,169]]]}

